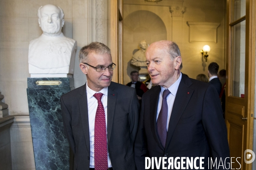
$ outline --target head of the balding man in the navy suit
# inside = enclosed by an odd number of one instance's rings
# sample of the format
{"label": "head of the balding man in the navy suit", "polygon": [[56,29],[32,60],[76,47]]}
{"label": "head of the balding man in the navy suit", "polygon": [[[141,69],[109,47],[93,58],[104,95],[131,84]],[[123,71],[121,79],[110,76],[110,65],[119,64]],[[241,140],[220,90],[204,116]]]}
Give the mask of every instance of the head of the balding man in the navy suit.
{"label": "head of the balding man in the navy suit", "polygon": [[146,51],[148,74],[154,85],[169,88],[180,77],[181,62],[180,50],[175,42],[154,42]]}

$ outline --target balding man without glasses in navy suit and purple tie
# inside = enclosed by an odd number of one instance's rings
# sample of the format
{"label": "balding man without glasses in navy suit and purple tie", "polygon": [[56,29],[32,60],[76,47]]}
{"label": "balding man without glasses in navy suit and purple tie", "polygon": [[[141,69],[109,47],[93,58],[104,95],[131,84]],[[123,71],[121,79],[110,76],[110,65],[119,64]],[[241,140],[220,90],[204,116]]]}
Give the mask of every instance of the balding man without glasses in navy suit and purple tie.
{"label": "balding man without glasses in navy suit and purple tie", "polygon": [[[145,169],[145,157],[157,157],[157,160],[160,157],[173,157],[173,160],[204,157],[201,164],[204,169],[208,169],[208,158],[216,159],[218,164],[222,159],[224,164],[230,151],[227,128],[214,87],[180,73],[182,59],[175,42],[152,43],[146,51],[146,63],[155,86],[142,99],[134,150],[137,169]],[[182,162],[179,163],[181,166]],[[199,164],[197,160],[192,169]],[[183,167],[186,167],[186,161]]]}

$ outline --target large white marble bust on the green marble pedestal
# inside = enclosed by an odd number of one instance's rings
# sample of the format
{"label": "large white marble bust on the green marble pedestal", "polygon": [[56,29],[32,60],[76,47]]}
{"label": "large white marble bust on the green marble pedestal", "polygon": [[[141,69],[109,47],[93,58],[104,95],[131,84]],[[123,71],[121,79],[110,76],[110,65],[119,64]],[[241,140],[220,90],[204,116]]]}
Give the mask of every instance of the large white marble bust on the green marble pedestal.
{"label": "large white marble bust on the green marble pedestal", "polygon": [[65,37],[63,10],[47,4],[38,9],[43,34],[29,43],[31,77],[71,77],[74,73],[76,40]]}

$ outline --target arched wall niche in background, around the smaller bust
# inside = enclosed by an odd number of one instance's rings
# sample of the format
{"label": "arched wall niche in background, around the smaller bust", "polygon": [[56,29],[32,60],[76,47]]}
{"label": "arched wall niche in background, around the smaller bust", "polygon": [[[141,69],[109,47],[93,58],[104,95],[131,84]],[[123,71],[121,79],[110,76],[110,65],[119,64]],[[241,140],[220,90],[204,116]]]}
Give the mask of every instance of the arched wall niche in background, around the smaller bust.
{"label": "arched wall niche in background, around the smaller bust", "polygon": [[138,67],[130,64],[133,51],[140,49],[139,42],[146,40],[150,45],[155,41],[167,40],[167,31],[163,20],[154,12],[147,10],[128,14],[124,18],[123,26],[123,68],[126,84],[130,82],[130,72],[139,70]]}

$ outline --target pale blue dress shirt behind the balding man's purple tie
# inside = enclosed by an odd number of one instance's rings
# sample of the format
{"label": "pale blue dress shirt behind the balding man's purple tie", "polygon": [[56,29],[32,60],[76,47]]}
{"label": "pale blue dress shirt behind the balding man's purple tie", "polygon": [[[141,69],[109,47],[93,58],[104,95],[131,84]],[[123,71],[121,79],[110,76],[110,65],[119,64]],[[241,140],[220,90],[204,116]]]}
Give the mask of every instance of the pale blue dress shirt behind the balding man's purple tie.
{"label": "pale blue dress shirt behind the balding man's purple tie", "polygon": [[[177,94],[177,90],[180,84],[180,80],[182,77],[182,73],[180,73],[180,77],[177,79],[177,81],[175,83],[173,83],[168,90],[171,92],[171,94],[169,94],[167,96],[167,105],[168,105],[168,115],[167,115],[167,124],[166,124],[166,130],[168,131],[168,126],[169,126],[169,121],[170,121],[170,117],[171,117],[171,113],[172,113],[172,107],[173,107],[173,103],[175,100],[175,96]],[[158,106],[157,106],[157,118],[159,115],[159,112],[162,108],[162,101],[163,101],[163,91],[166,90],[165,88],[163,88],[163,86],[161,86],[161,91],[159,94],[159,100],[158,100]]]}

